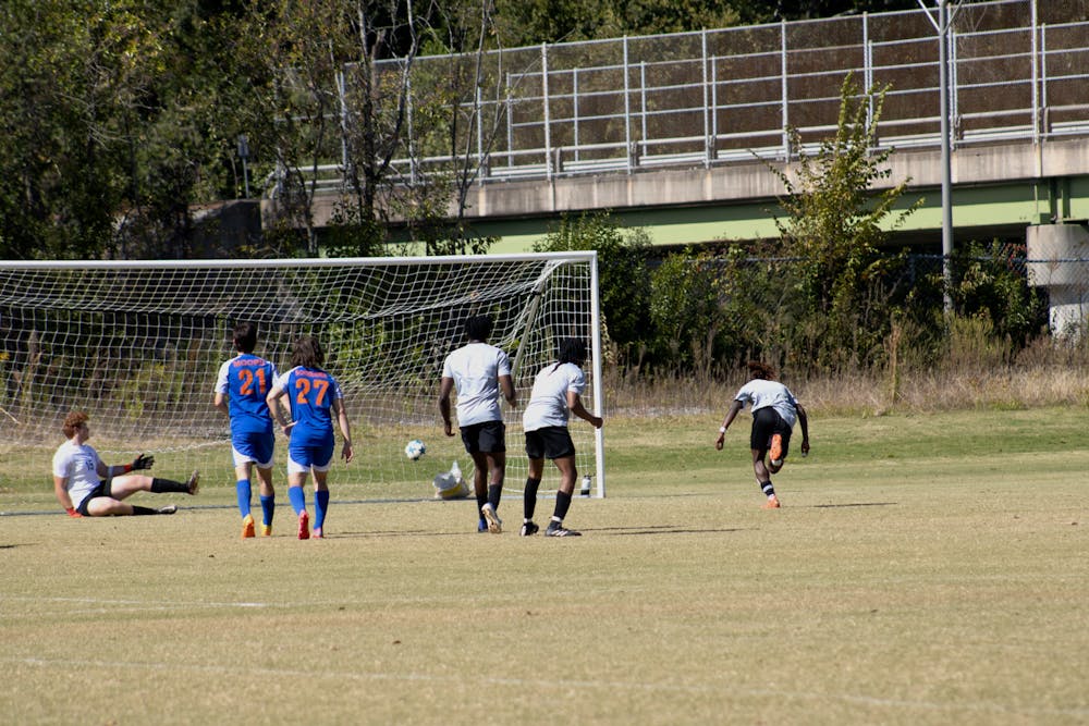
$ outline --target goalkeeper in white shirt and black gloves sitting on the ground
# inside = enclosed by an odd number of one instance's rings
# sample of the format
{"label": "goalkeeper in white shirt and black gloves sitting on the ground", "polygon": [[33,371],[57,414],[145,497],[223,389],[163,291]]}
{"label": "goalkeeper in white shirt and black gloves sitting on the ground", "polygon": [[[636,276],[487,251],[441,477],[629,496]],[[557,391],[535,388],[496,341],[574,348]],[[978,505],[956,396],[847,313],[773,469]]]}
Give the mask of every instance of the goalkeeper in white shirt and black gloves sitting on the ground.
{"label": "goalkeeper in white shirt and black gloves sitting on the ground", "polygon": [[86,443],[90,438],[87,419],[83,411],[72,411],[65,417],[63,431],[68,441],[53,455],[53,493],[70,517],[174,514],[178,510],[174,505],[151,508],[122,500],[136,492],[197,493],[199,475],[196,471],[185,483],[130,473],[150,469],[154,456],[140,454],[132,464],[103,464],[98,452]]}

